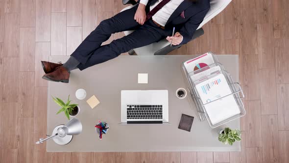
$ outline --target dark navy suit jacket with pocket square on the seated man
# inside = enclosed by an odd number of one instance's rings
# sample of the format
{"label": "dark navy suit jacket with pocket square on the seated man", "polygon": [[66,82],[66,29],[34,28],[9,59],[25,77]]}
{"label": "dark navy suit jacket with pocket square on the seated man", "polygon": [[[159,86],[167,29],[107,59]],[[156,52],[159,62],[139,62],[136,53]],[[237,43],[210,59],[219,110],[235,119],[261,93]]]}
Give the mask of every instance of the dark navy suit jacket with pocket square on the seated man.
{"label": "dark navy suit jacket with pocket square on the seated man", "polygon": [[[157,1],[149,0],[146,8],[149,9],[149,6]],[[209,9],[210,0],[197,0],[196,2],[184,0],[169,17],[165,29],[175,27],[176,31],[183,36],[181,44],[186,44],[192,40],[194,31],[202,23]],[[185,18],[181,16],[183,11]]]}

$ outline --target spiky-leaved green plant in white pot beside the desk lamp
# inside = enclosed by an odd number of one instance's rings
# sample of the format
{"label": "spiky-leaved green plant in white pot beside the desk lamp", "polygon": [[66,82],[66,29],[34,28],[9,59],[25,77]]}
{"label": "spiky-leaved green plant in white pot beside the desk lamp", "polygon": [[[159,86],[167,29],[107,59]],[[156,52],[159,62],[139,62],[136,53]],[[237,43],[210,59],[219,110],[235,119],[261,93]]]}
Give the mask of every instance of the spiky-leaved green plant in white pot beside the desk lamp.
{"label": "spiky-leaved green plant in white pot beside the desk lamp", "polygon": [[70,120],[70,116],[75,116],[79,112],[78,104],[70,104],[71,100],[69,100],[69,97],[70,95],[68,96],[67,102],[64,103],[61,99],[52,96],[53,101],[61,107],[56,114],[63,111],[68,120]]}

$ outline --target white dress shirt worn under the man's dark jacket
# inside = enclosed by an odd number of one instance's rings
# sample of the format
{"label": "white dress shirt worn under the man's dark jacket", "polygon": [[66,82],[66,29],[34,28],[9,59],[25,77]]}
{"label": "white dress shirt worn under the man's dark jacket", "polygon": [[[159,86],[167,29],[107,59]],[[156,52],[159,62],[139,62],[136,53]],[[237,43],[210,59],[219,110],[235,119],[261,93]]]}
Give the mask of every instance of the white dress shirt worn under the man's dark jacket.
{"label": "white dress shirt worn under the man's dark jacket", "polygon": [[[152,10],[155,6],[157,6],[162,0],[158,0],[156,3],[149,7]],[[177,7],[184,0],[170,0],[164,7],[162,7],[155,15],[152,16],[152,20],[157,22],[159,25],[165,27],[167,24],[169,17],[177,9]],[[147,4],[148,0],[141,0],[140,3]]]}

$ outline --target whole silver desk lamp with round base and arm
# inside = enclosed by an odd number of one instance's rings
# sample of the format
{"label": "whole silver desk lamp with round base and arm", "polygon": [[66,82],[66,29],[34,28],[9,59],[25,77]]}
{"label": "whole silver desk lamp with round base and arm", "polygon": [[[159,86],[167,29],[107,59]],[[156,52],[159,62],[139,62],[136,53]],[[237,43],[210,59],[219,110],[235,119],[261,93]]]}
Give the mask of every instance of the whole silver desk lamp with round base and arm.
{"label": "whole silver desk lamp with round base and arm", "polygon": [[73,118],[66,125],[59,125],[54,128],[52,135],[43,139],[40,138],[36,144],[41,144],[44,141],[53,138],[54,142],[59,145],[66,145],[71,142],[73,135],[79,135],[82,131],[81,122]]}

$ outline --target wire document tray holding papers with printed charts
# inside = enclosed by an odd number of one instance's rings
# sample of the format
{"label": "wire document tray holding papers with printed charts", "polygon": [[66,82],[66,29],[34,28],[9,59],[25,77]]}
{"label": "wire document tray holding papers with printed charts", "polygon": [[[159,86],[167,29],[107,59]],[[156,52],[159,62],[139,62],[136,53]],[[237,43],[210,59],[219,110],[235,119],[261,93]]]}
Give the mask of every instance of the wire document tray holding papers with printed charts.
{"label": "wire document tray holding papers with printed charts", "polygon": [[[197,59],[199,59],[200,57],[203,57],[205,55],[211,56],[211,60],[209,61],[211,64],[197,63],[195,65],[195,63],[190,63],[193,61],[197,61]],[[188,63],[195,66],[194,69],[192,69],[191,67],[188,68]],[[234,119],[240,118],[241,116],[245,115],[246,111],[245,111],[244,105],[241,101],[241,98],[244,97],[241,86],[238,82],[233,81],[231,75],[227,71],[225,71],[223,65],[218,62],[215,54],[213,54],[212,52],[208,52],[208,53],[203,54],[201,56],[198,56],[194,59],[185,61],[182,63],[182,68],[183,68],[184,74],[188,80],[188,83],[189,83],[188,90],[189,90],[190,95],[192,97],[196,111],[199,115],[200,121],[207,120],[211,128],[216,128],[217,126],[220,126],[224,123],[227,123],[229,121],[232,121]],[[215,99],[213,99],[213,100],[208,99],[208,100],[204,101],[204,96],[202,96],[200,94],[200,85],[202,85],[203,83],[207,83],[201,87],[202,88],[201,90],[203,91],[201,93],[209,94],[209,92],[207,92],[207,91],[210,91],[210,89],[214,86],[215,87],[218,86],[218,82],[216,82],[216,81],[211,82],[210,80],[212,80],[218,76],[221,76],[223,79],[225,79],[225,81],[222,81],[222,82],[225,83],[225,86],[227,87],[226,91],[220,90],[219,91],[220,95],[218,95],[216,97],[214,96]],[[198,87],[198,89],[197,89],[197,87]],[[226,100],[227,101],[230,100],[230,103],[225,103]],[[228,107],[228,105],[230,105],[230,107]],[[214,117],[215,114],[212,114],[212,111],[214,111],[214,109],[220,109],[220,108],[218,108],[220,106],[223,106],[221,108],[225,109],[226,112],[234,112],[234,111],[236,112],[237,111],[237,113],[235,113],[235,114],[232,113],[232,116],[226,115],[229,117],[219,116],[220,117],[219,120],[216,121],[216,117]],[[231,110],[231,108],[232,108],[232,110]],[[211,111],[211,113],[210,113],[210,111]],[[215,119],[215,120],[213,120],[213,119]]]}

